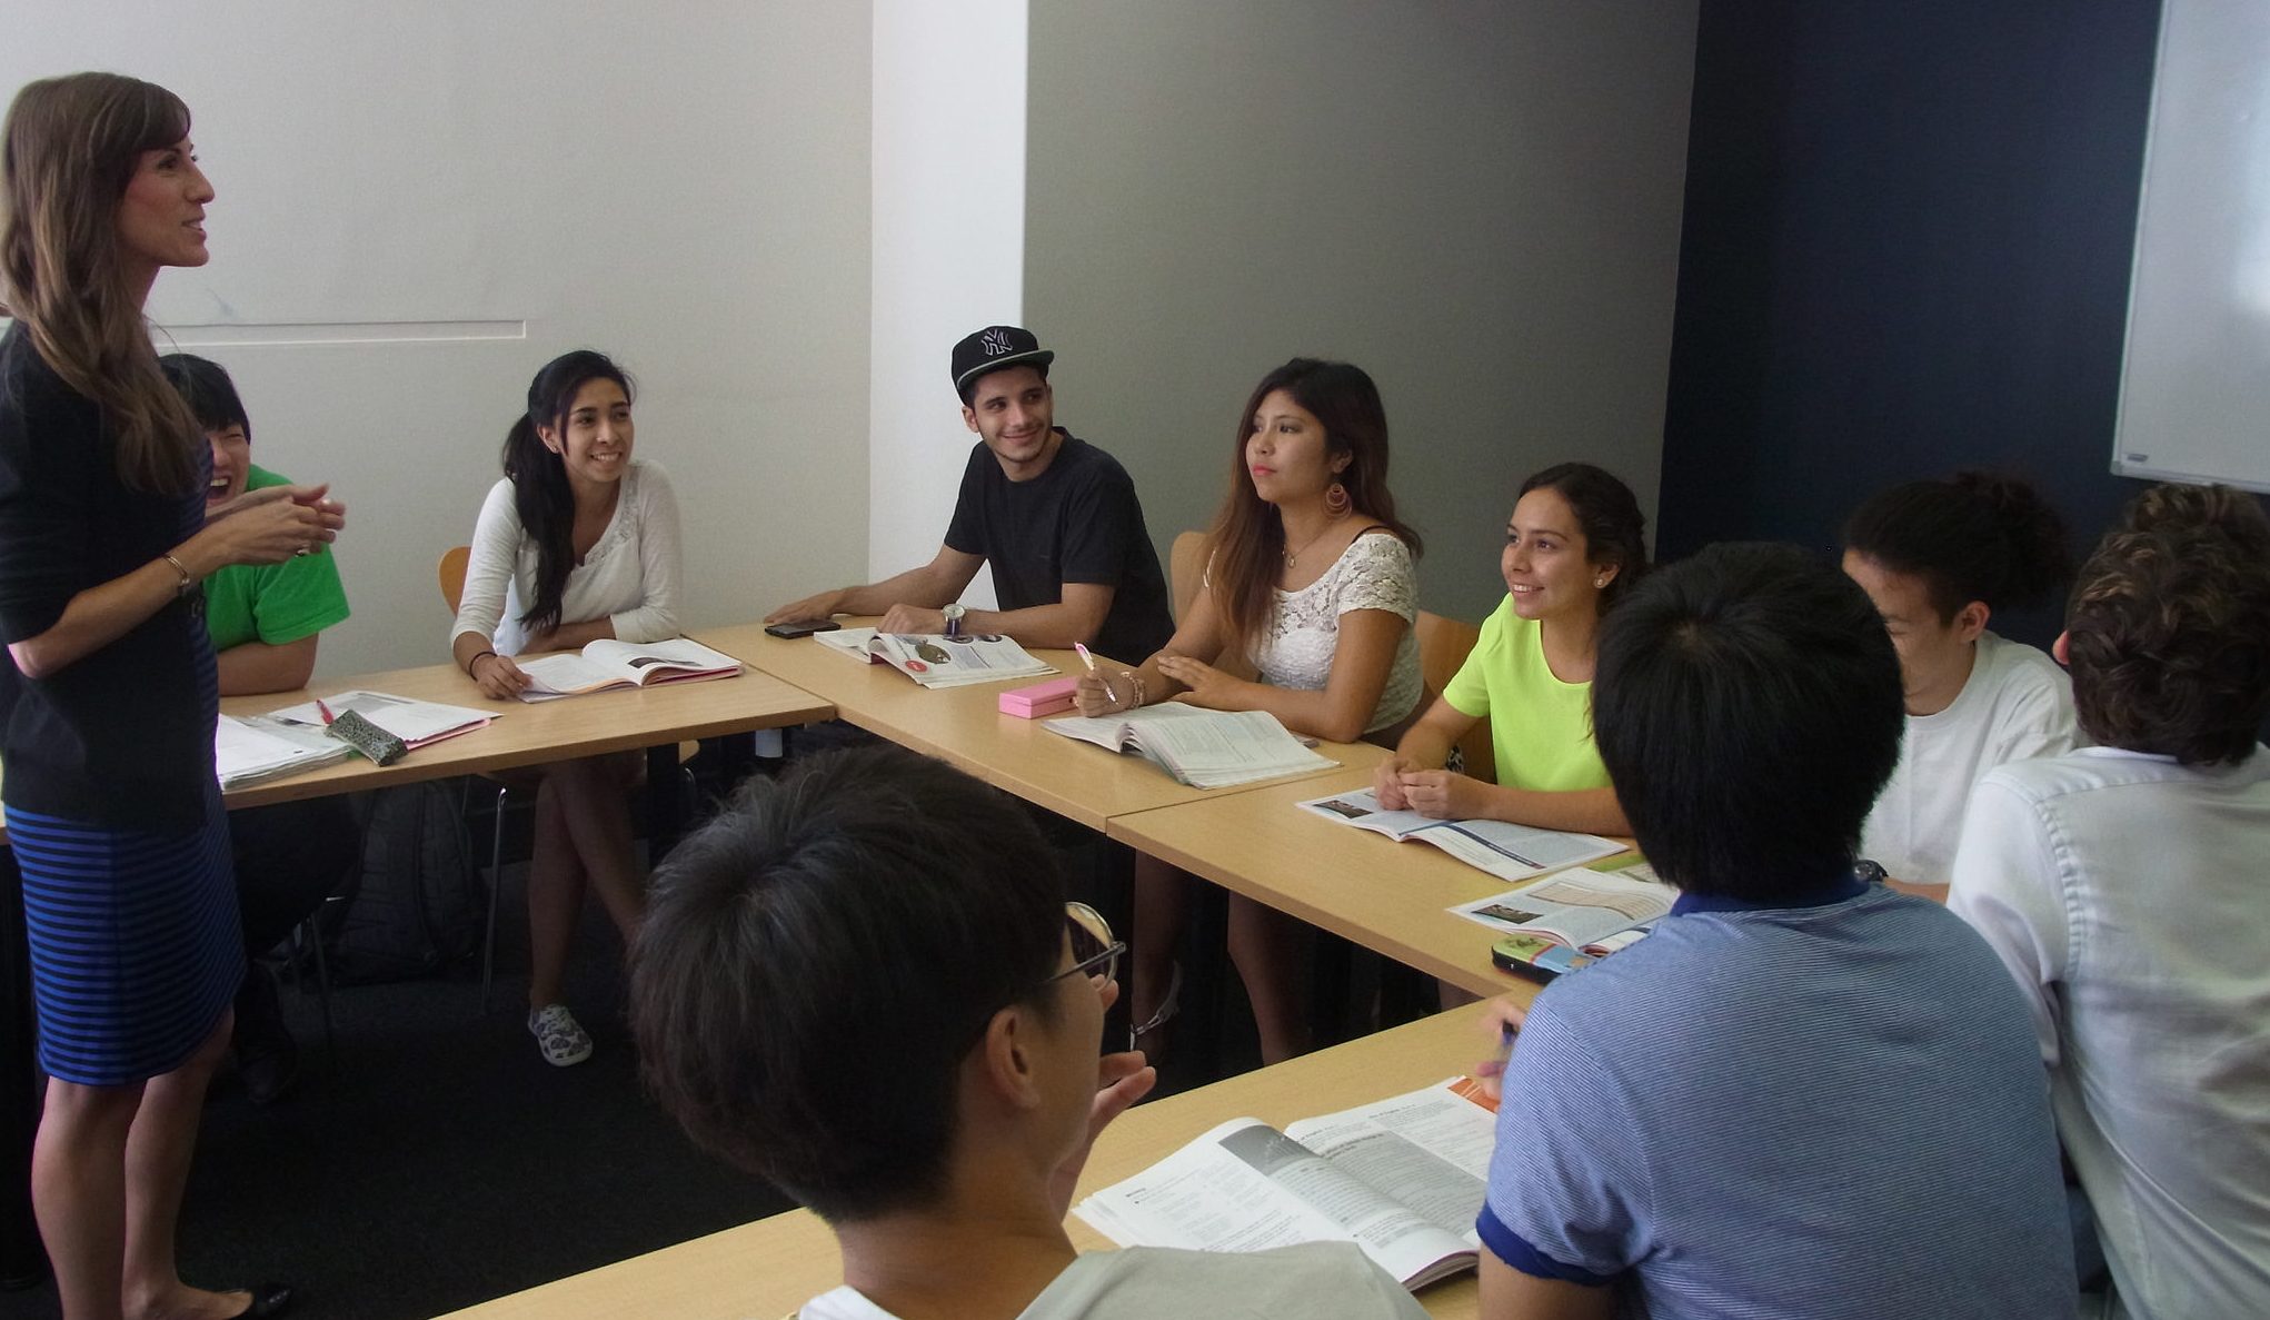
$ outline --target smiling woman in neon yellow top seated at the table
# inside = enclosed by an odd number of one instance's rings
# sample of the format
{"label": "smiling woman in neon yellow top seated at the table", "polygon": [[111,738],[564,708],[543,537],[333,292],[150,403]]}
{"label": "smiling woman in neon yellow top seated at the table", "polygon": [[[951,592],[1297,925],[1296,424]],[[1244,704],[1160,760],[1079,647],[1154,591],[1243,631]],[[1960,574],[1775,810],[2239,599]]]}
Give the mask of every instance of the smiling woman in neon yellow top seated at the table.
{"label": "smiling woman in neon yellow top seated at the table", "polygon": [[[1591,663],[1600,616],[1648,570],[1648,520],[1630,486],[1591,463],[1521,484],[1498,570],[1507,595],[1482,638],[1373,788],[1392,811],[1630,834],[1591,741]],[[1496,784],[1444,770],[1451,747],[1489,720]]]}

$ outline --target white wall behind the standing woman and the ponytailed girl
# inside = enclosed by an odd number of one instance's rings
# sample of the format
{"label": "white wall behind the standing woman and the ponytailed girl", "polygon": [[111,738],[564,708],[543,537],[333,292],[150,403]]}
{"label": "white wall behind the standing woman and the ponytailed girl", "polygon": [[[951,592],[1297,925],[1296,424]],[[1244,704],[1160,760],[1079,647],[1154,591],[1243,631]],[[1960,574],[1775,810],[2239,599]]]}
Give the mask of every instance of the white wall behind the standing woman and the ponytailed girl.
{"label": "white wall behind the standing woman and the ponytailed girl", "polygon": [[238,382],[254,461],[350,502],[322,672],[434,663],[434,586],[545,359],[640,382],[688,623],[858,563],[869,18],[704,0],[9,0],[0,89],[75,68],[191,105],[213,261],[150,302]]}

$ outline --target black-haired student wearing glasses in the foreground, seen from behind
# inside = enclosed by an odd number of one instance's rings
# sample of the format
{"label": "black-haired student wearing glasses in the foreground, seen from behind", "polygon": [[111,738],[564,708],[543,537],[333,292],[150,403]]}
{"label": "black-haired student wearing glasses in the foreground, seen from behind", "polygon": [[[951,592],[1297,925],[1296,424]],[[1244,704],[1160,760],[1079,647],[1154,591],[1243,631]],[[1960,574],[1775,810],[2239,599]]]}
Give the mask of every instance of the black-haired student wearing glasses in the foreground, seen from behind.
{"label": "black-haired student wearing glasses in the foreground, seen from behind", "polygon": [[1103,1054],[1121,952],[1017,802],[829,752],[656,870],[631,1029],[697,1143],[835,1231],[844,1284],[804,1320],[1423,1315],[1353,1245],[1071,1247],[1090,1145],[1155,1084]]}

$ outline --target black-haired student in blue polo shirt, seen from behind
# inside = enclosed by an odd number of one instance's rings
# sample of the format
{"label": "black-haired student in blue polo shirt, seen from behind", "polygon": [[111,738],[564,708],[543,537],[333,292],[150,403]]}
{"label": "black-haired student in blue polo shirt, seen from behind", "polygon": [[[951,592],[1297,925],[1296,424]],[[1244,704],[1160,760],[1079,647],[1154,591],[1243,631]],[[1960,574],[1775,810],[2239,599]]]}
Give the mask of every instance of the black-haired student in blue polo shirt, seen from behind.
{"label": "black-haired student in blue polo shirt, seen from behind", "polygon": [[1882,620],[1796,548],[1714,545],[1600,623],[1600,759],[1682,895],[1498,1004],[1482,1315],[2073,1315],[2025,1002],[1855,866],[1900,722]]}

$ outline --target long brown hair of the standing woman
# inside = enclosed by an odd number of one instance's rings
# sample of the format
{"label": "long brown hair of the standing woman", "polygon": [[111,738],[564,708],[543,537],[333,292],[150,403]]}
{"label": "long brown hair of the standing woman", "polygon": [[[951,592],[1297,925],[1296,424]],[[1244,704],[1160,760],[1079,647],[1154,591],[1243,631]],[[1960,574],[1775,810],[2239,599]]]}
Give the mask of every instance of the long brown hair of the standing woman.
{"label": "long brown hair of the standing woman", "polygon": [[186,139],[188,107],[138,77],[73,73],[27,82],[0,134],[0,302],[54,375],[102,409],[118,479],[188,493],[202,436],[159,373],[118,250],[118,204],[141,154]]}

